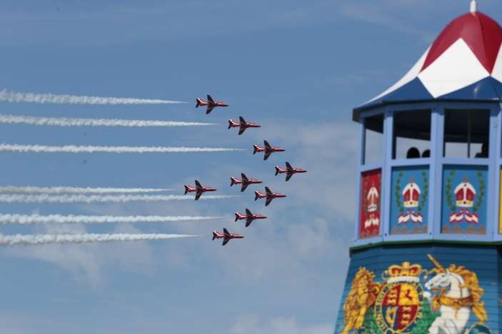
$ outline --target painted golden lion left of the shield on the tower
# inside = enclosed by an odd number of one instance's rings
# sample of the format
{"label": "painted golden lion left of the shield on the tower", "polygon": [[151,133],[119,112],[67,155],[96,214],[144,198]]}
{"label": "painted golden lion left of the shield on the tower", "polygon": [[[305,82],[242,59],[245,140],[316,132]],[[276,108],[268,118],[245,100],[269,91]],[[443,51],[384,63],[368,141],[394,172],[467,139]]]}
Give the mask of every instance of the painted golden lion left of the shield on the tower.
{"label": "painted golden lion left of the shield on the tower", "polygon": [[368,308],[375,303],[381,285],[373,282],[375,275],[359,268],[356,277],[352,280],[351,290],[343,304],[345,328],[341,333],[348,334],[351,330],[358,330],[363,326]]}

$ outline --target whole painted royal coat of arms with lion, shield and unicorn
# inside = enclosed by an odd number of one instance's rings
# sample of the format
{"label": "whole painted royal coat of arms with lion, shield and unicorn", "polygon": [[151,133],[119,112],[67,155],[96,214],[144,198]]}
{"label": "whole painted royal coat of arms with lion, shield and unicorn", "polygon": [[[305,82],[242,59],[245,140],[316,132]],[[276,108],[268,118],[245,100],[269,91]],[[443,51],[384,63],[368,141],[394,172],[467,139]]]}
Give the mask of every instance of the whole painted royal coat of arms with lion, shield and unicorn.
{"label": "whole painted royal coat of arms with lion, shield and unicorn", "polygon": [[431,270],[409,262],[391,265],[382,283],[374,281],[371,270],[359,268],[343,304],[339,333],[491,333],[484,325],[488,315],[476,273],[454,264],[446,268],[427,256]]}

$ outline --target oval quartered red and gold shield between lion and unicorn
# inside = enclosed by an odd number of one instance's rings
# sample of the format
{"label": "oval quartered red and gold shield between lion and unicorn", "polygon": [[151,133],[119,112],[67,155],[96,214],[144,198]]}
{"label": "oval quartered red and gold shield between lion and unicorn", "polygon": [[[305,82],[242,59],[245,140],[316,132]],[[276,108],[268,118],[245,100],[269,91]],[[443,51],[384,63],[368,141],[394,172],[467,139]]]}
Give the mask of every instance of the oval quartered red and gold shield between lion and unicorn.
{"label": "oval quartered red and gold shield between lion and unicorn", "polygon": [[423,299],[419,283],[396,281],[387,283],[376,299],[375,315],[383,333],[409,333],[421,316]]}

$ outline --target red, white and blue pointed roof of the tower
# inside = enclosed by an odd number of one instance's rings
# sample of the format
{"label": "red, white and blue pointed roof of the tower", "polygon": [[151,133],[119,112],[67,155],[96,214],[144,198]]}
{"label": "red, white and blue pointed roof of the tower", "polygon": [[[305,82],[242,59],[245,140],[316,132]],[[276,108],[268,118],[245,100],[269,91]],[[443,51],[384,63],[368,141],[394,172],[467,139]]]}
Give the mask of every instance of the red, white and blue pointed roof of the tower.
{"label": "red, white and blue pointed roof of the tower", "polygon": [[354,109],[417,101],[501,101],[502,28],[474,10],[451,21],[401,80]]}

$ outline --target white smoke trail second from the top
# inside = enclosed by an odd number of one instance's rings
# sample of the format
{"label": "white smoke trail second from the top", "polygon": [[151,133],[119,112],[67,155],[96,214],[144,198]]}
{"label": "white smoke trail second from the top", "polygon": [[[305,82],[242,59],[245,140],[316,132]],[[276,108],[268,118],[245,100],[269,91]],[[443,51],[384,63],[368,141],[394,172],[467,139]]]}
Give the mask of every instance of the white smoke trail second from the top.
{"label": "white smoke trail second from the top", "polygon": [[107,118],[64,118],[0,115],[0,123],[25,124],[34,126],[211,126],[216,123],[146,121],[140,119],[107,119]]}

